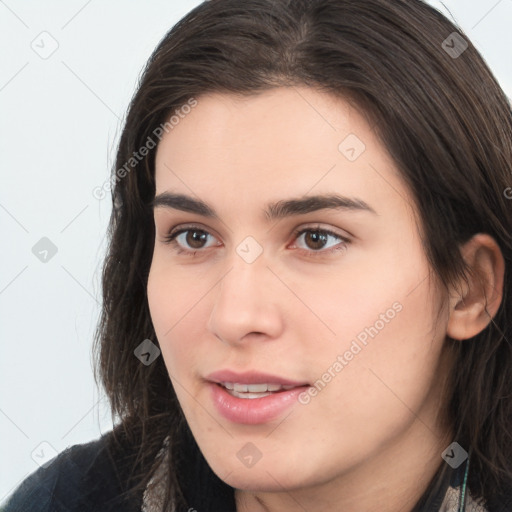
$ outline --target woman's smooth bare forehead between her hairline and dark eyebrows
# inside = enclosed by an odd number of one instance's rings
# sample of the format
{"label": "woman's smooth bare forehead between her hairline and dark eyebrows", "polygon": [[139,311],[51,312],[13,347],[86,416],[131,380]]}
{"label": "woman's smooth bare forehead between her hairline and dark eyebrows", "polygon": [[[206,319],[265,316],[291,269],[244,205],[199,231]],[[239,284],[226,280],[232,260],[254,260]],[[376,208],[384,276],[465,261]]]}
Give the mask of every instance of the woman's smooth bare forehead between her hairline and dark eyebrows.
{"label": "woman's smooth bare forehead between her hairline and dark eyebrows", "polygon": [[247,206],[331,191],[410,202],[364,113],[309,87],[198,97],[158,145],[156,187]]}

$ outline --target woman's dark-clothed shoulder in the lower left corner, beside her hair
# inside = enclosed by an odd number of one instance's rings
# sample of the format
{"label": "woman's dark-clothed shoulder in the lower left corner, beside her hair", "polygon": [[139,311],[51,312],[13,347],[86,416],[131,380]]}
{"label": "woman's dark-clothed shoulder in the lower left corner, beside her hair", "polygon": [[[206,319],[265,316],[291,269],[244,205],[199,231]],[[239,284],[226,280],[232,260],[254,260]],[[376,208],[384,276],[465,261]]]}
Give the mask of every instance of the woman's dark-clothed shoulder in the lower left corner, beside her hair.
{"label": "woman's dark-clothed shoulder in the lower left corner, beside her hair", "polygon": [[122,477],[108,450],[111,434],[61,452],[29,475],[1,511],[128,511],[120,498]]}

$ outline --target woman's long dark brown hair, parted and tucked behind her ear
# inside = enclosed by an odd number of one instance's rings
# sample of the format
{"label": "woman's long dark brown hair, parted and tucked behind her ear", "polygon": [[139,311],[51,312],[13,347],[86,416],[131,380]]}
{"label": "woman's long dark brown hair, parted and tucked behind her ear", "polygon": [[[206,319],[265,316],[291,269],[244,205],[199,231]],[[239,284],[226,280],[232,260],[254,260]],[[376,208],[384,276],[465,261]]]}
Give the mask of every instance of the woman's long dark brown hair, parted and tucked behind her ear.
{"label": "woman's long dark brown hair, parted and tucked behind her ear", "polygon": [[[456,360],[444,407],[472,453],[471,494],[490,499],[512,487],[512,113],[464,33],[420,0],[205,1],[150,57],[117,150],[94,347],[115,431],[137,453],[127,490],[146,485],[166,435],[176,449],[185,420],[163,359],[146,366],[134,356],[143,340],[158,344],[146,295],[156,150],[126,164],[191,98],[294,85],[350,98],[372,119],[413,194],[441,283],[464,276],[459,249],[472,235],[499,244],[499,311],[473,339],[446,339]],[[178,470],[168,502],[180,499]]]}

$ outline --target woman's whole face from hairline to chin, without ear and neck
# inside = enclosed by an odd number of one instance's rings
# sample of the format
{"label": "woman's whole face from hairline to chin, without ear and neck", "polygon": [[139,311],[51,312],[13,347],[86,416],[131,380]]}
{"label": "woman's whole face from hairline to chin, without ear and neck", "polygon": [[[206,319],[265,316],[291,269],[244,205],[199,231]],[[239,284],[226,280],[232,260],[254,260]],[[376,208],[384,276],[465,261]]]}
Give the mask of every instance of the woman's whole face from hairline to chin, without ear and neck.
{"label": "woman's whole face from hairline to chin, without ear and neck", "polygon": [[447,318],[364,115],[306,87],[197,100],[157,150],[148,300],[206,460],[272,491],[431,457]]}

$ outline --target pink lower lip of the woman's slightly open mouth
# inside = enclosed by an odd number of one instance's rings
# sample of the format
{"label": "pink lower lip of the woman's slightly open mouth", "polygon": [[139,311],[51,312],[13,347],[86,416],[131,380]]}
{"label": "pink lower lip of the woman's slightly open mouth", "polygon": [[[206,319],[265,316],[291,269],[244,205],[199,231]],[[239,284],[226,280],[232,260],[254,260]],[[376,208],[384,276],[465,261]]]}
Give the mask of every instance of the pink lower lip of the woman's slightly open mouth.
{"label": "pink lower lip of the woman's slightly open mouth", "polygon": [[267,423],[279,418],[297,403],[298,397],[309,386],[300,386],[272,393],[262,398],[237,398],[215,382],[209,382],[213,403],[217,411],[229,421],[245,425]]}

